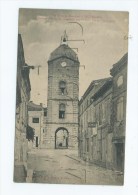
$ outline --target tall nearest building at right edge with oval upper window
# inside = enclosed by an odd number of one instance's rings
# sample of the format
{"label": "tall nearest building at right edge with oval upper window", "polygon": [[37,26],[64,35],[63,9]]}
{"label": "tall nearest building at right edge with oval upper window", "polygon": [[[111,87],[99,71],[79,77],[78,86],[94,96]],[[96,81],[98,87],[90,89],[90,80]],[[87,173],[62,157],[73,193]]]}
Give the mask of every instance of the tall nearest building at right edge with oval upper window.
{"label": "tall nearest building at right edge with oval upper window", "polygon": [[125,54],[110,70],[113,76],[113,146],[114,167],[124,170],[125,129],[126,129],[126,97],[127,97],[127,59]]}

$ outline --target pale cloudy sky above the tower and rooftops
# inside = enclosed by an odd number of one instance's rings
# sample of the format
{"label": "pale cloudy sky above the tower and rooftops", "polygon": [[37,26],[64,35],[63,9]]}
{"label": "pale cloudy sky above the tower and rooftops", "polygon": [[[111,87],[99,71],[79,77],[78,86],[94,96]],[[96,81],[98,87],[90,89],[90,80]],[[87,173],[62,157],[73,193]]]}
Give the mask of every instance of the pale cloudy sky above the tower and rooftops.
{"label": "pale cloudy sky above the tower and rooftops", "polygon": [[128,51],[128,12],[20,9],[19,33],[30,70],[31,101],[47,105],[47,61],[66,30],[68,45],[80,65],[79,98],[93,80],[110,76],[110,69]]}

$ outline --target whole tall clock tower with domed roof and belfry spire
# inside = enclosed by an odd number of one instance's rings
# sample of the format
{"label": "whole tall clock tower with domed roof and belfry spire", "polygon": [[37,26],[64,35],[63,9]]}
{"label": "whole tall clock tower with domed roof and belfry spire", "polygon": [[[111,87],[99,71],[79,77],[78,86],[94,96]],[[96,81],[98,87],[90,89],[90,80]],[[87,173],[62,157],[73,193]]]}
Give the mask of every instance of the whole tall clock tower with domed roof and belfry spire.
{"label": "whole tall clock tower with domed roof and belfry spire", "polygon": [[78,148],[79,65],[65,32],[48,60],[46,148]]}

